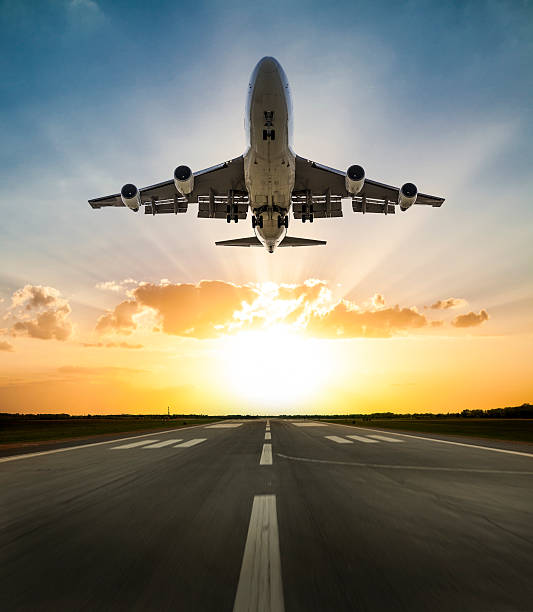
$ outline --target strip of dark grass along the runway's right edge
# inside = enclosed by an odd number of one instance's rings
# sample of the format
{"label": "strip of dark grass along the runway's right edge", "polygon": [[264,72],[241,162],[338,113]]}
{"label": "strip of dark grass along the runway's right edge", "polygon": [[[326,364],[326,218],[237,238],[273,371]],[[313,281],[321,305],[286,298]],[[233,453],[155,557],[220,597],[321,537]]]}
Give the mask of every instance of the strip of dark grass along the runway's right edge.
{"label": "strip of dark grass along the runway's right edge", "polygon": [[533,419],[329,418],[321,420],[340,425],[356,425],[357,427],[370,427],[373,429],[392,429],[413,433],[533,442]]}

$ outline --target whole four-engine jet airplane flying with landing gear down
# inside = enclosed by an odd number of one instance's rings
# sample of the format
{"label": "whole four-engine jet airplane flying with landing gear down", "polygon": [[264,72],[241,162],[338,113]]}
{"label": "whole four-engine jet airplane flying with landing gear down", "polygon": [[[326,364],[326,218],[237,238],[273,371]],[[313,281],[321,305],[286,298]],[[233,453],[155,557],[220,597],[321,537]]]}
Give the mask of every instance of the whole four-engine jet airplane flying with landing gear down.
{"label": "whole four-engine jet airplane flying with landing gear down", "polygon": [[215,242],[217,246],[276,247],[324,245],[287,235],[292,207],[294,219],[342,217],[342,200],[350,198],[358,213],[394,214],[413,204],[442,206],[444,198],[419,193],[416,185],[393,187],[366,178],[351,165],[345,172],[296,155],[292,144],[292,102],[287,76],[273,57],[254,68],[245,112],[247,148],[243,155],[193,172],[180,165],[171,180],[138,189],[128,183],[120,193],[89,200],[93,208],[123,206],[151,215],[185,213],[198,204],[198,217],[246,219],[250,210],[255,235]]}

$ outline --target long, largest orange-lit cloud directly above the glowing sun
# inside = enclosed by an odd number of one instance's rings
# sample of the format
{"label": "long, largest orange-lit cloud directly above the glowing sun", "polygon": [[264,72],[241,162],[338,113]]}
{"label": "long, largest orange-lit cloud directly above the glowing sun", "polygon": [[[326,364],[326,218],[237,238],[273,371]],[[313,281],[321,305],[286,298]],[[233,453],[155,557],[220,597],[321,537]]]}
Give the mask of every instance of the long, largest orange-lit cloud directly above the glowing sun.
{"label": "long, largest orange-lit cloud directly above the glowing sun", "polygon": [[388,338],[428,325],[414,306],[385,308],[379,293],[364,306],[335,300],[327,283],[316,279],[296,285],[143,283],[132,291],[132,298],[102,315],[97,331],[129,334],[141,327],[147,312],[156,317],[164,333],[197,339],[269,329],[276,324],[317,337]]}

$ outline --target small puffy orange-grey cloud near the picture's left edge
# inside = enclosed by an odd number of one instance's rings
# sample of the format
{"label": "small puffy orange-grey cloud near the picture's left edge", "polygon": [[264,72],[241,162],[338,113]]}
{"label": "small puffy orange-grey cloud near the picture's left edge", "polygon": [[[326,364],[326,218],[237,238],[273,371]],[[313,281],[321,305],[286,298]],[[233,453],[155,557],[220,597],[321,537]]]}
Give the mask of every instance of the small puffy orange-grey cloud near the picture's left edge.
{"label": "small puffy orange-grey cloud near the picture's left edge", "polygon": [[67,340],[72,335],[71,308],[57,289],[25,285],[11,298],[11,334],[40,340]]}

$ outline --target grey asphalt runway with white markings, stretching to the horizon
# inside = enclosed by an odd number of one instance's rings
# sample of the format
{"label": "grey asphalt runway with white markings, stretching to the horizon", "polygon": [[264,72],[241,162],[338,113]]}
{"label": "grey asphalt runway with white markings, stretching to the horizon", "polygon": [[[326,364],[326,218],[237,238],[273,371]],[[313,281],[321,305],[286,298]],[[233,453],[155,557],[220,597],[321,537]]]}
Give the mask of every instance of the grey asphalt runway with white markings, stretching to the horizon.
{"label": "grey asphalt runway with white markings, stretching to the horizon", "polygon": [[219,425],[0,458],[0,609],[533,610],[531,445]]}

